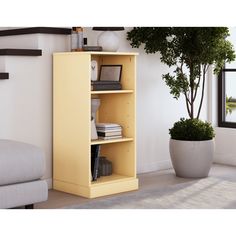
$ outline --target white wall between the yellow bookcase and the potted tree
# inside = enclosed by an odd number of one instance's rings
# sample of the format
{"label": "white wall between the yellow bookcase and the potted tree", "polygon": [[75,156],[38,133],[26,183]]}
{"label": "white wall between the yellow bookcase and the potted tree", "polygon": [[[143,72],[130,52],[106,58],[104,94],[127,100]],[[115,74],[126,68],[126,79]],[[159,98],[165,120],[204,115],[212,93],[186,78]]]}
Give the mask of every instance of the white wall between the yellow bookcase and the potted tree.
{"label": "white wall between the yellow bookcase and the potted tree", "polygon": [[[132,28],[126,28],[126,31]],[[136,51],[137,58],[137,170],[149,172],[171,167],[168,130],[173,123],[186,117],[184,99],[172,98],[161,75],[171,70],[160,62],[158,54],[146,54],[141,49],[132,49],[126,40],[126,31],[117,32],[121,38],[119,51]],[[97,31],[85,30],[88,44],[96,45]],[[207,96],[202,109],[206,119]]]}

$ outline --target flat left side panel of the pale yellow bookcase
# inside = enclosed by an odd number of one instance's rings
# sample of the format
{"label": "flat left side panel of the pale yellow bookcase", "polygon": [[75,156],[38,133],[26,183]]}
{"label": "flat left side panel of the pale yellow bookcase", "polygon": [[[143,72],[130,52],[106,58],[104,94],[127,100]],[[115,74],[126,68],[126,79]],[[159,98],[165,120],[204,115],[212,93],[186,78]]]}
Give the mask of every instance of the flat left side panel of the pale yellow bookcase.
{"label": "flat left side panel of the pale yellow bookcase", "polygon": [[54,54],[53,176],[90,183],[90,55]]}

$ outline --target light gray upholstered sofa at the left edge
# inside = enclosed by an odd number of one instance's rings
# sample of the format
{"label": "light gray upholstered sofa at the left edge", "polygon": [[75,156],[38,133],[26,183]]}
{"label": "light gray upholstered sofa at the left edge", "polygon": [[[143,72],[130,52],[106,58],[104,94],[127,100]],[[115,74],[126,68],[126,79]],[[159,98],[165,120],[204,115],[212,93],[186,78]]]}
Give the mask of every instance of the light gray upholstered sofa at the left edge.
{"label": "light gray upholstered sofa at the left edge", "polygon": [[0,139],[0,208],[25,206],[46,201],[48,187],[44,154],[36,146]]}

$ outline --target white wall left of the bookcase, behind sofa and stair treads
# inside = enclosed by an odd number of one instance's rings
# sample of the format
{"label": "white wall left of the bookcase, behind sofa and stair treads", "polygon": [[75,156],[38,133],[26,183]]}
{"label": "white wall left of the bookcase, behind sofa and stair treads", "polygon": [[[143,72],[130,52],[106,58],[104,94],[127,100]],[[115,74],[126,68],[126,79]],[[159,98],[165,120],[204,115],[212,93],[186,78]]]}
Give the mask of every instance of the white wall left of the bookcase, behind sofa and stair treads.
{"label": "white wall left of the bookcase, behind sofa and stair treads", "polygon": [[0,48],[42,49],[42,56],[0,56],[0,138],[41,147],[46,156],[44,179],[52,186],[52,52],[68,51],[69,36],[0,37]]}

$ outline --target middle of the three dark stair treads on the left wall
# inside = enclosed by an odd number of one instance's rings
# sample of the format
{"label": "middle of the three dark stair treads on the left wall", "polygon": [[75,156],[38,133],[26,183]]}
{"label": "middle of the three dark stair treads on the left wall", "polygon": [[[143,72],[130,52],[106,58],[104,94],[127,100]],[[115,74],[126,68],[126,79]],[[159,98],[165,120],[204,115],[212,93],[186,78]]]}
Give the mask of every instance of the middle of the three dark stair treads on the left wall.
{"label": "middle of the three dark stair treads on the left wall", "polygon": [[0,49],[0,56],[42,56],[41,49],[15,49],[4,48]]}

